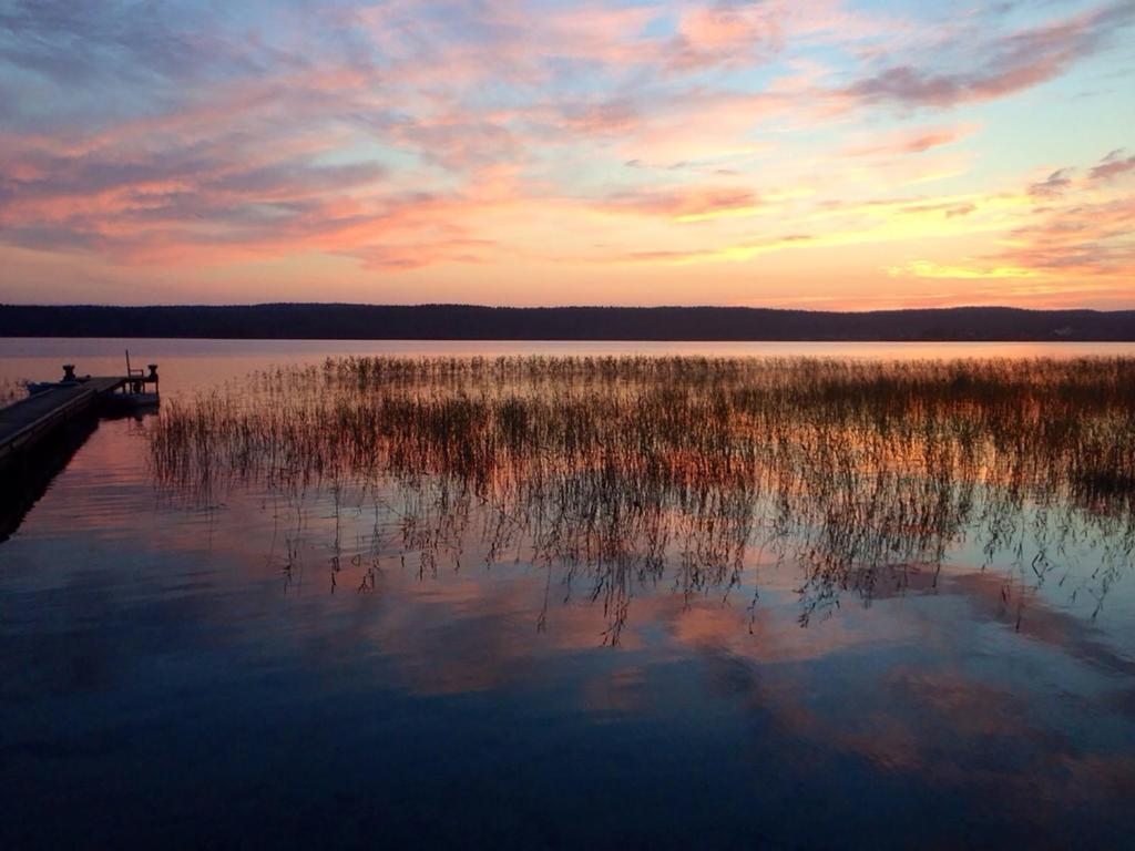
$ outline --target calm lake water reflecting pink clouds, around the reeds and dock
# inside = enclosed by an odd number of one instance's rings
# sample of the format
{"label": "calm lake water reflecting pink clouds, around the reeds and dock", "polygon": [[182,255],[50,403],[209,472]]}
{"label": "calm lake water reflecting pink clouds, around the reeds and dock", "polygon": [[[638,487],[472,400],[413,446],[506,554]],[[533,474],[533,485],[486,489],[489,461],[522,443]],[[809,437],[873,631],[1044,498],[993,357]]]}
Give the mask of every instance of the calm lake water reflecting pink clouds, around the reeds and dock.
{"label": "calm lake water reflecting pink clouds, around the reeds and dock", "polygon": [[[345,354],[1135,356],[0,339],[0,381],[117,373],[127,347],[163,407]],[[457,541],[417,491],[380,515],[353,483],[169,487],[155,422],[101,421],[0,542],[0,846],[1130,843],[1128,515],[1077,507],[1044,553],[1060,506],[967,507],[940,559],[869,593],[756,544],[735,581],[667,567],[615,593],[521,539]],[[815,542],[808,516],[792,536]]]}

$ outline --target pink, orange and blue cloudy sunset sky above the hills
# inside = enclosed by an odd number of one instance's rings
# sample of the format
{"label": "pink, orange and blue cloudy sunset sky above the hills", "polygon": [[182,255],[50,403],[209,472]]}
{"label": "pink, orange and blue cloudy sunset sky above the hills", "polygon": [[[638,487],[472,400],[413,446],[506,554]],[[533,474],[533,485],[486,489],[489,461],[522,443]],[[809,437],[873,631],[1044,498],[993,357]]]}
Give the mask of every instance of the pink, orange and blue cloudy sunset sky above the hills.
{"label": "pink, orange and blue cloudy sunset sky above the hills", "polygon": [[0,0],[0,301],[1135,307],[1135,1]]}

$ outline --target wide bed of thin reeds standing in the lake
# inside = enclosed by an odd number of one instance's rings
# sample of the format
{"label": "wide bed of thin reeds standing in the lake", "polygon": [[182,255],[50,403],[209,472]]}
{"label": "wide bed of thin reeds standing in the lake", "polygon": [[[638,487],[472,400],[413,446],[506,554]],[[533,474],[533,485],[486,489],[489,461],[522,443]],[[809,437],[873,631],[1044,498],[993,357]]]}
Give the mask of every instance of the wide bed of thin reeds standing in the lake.
{"label": "wide bed of thin reeds standing in the lake", "polygon": [[970,534],[992,561],[1029,524],[1041,578],[1094,536],[1108,582],[1135,541],[1133,359],[344,357],[169,404],[149,444],[170,490],[381,500],[426,559],[474,534],[615,615],[754,548],[801,565],[806,618]]}

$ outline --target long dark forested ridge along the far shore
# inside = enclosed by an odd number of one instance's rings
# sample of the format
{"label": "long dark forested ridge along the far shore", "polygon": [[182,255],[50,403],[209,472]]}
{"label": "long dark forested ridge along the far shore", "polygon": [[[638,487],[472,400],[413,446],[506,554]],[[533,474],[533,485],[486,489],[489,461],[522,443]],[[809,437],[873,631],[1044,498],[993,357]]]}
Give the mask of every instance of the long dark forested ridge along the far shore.
{"label": "long dark forested ridge along the far shore", "polygon": [[1128,340],[1135,311],[255,304],[0,305],[2,337],[560,340]]}

